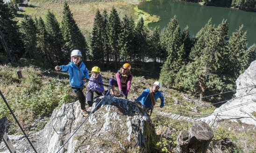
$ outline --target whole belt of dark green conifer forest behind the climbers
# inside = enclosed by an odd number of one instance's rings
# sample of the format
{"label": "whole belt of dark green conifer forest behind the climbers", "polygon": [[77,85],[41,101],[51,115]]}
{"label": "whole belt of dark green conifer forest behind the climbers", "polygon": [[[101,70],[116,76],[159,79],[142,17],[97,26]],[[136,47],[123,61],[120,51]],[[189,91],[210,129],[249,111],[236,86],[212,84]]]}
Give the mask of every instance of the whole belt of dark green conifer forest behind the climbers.
{"label": "whole belt of dark green conifer forest behind the climbers", "polygon": [[[120,18],[112,7],[110,13],[96,11],[92,34],[85,38],[67,2],[60,23],[49,10],[45,21],[25,16],[17,25],[11,5],[0,1],[0,10],[0,30],[14,60],[36,59],[52,67],[67,63],[70,51],[79,49],[84,61],[114,63],[116,69],[118,62],[163,63],[159,80],[164,86],[201,97],[235,89],[236,78],[256,59],[256,44],[248,48],[243,25],[228,38],[225,19],[218,26],[209,19],[191,37],[188,26],[181,31],[176,16],[163,30],[151,30],[143,18],[136,23],[128,15]],[[0,50],[6,54],[2,45]]]}

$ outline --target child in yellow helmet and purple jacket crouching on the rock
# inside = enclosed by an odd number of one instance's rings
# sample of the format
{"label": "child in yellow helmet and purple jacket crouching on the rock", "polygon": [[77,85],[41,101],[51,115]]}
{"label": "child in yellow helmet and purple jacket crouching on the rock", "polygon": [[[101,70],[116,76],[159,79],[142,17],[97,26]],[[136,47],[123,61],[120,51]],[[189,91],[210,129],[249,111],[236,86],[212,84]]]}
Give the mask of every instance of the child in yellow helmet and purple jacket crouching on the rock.
{"label": "child in yellow helmet and purple jacket crouching on the rock", "polygon": [[90,77],[90,80],[86,86],[86,101],[91,107],[93,103],[93,92],[97,95],[105,95],[105,93],[107,94],[107,90],[105,91],[104,86],[102,85],[102,76],[100,75],[100,68],[98,66],[92,68],[92,76]]}

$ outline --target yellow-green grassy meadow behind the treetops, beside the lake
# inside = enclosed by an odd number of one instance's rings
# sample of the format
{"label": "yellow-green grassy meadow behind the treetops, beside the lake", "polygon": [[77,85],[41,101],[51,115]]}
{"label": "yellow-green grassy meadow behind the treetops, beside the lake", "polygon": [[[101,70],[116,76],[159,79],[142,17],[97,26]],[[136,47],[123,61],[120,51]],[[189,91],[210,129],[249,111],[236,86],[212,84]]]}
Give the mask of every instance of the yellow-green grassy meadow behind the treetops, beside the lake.
{"label": "yellow-green grassy meadow behind the treetops, beside the lake", "polygon": [[[115,1],[68,1],[73,17],[78,24],[78,27],[84,34],[90,33],[92,31],[92,25],[94,16],[97,8],[100,9],[100,12],[103,12],[103,9],[107,9],[108,14],[110,13],[112,7],[114,6],[119,13],[119,17],[122,18],[124,14],[131,15],[135,22],[143,17],[145,24],[149,22],[160,20],[156,15],[150,15],[142,10],[139,10],[138,7],[131,3],[129,0],[115,0]],[[21,4],[23,11],[19,12],[17,20],[21,21],[25,15],[29,16],[41,16],[45,20],[45,15],[47,14],[48,9],[50,9],[57,17],[57,20],[61,21],[62,11],[63,11],[63,2],[61,1],[49,1],[49,0],[30,0],[28,4]]]}

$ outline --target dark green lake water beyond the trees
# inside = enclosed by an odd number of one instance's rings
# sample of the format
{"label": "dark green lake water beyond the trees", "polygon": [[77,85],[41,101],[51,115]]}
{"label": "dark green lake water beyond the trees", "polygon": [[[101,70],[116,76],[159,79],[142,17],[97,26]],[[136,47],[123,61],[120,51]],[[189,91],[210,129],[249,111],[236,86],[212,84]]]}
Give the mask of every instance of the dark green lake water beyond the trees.
{"label": "dark green lake water beyond the trees", "polygon": [[247,31],[248,45],[256,43],[256,13],[245,12],[241,10],[202,6],[196,3],[190,3],[180,0],[152,0],[150,2],[142,2],[138,8],[156,14],[161,17],[161,21],[149,24],[149,28],[167,27],[174,15],[178,18],[181,31],[189,26],[190,35],[196,35],[197,32],[205,26],[206,22],[212,18],[213,24],[218,26],[222,19],[227,19],[229,23],[229,36],[235,32],[242,24],[243,31]]}

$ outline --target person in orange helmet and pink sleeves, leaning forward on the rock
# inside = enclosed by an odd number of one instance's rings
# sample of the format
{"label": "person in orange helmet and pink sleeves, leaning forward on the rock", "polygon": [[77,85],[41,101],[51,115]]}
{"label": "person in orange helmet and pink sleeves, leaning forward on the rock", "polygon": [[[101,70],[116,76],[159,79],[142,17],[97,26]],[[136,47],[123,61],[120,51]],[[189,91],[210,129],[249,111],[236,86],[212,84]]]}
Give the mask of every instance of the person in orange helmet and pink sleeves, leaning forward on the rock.
{"label": "person in orange helmet and pink sleeves, leaning forward on the rock", "polygon": [[115,86],[118,86],[121,96],[125,96],[125,98],[127,99],[133,79],[133,75],[131,74],[131,65],[128,63],[123,64],[123,66],[118,70],[115,76],[116,79],[111,78],[109,80],[109,85],[112,86],[112,94],[114,94]]}

